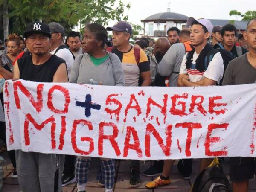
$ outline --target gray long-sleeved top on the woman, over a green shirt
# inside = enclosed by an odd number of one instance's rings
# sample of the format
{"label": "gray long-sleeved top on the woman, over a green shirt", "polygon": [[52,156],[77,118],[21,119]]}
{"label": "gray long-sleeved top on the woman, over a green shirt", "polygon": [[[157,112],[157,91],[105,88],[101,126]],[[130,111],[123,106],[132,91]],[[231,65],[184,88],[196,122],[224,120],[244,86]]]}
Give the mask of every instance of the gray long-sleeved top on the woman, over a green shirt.
{"label": "gray long-sleeved top on the woman, over a green shirt", "polygon": [[96,66],[88,53],[78,55],[74,61],[69,82],[90,84],[90,79],[102,82],[102,85],[125,86],[125,74],[121,61],[115,54],[109,53],[109,57]]}

